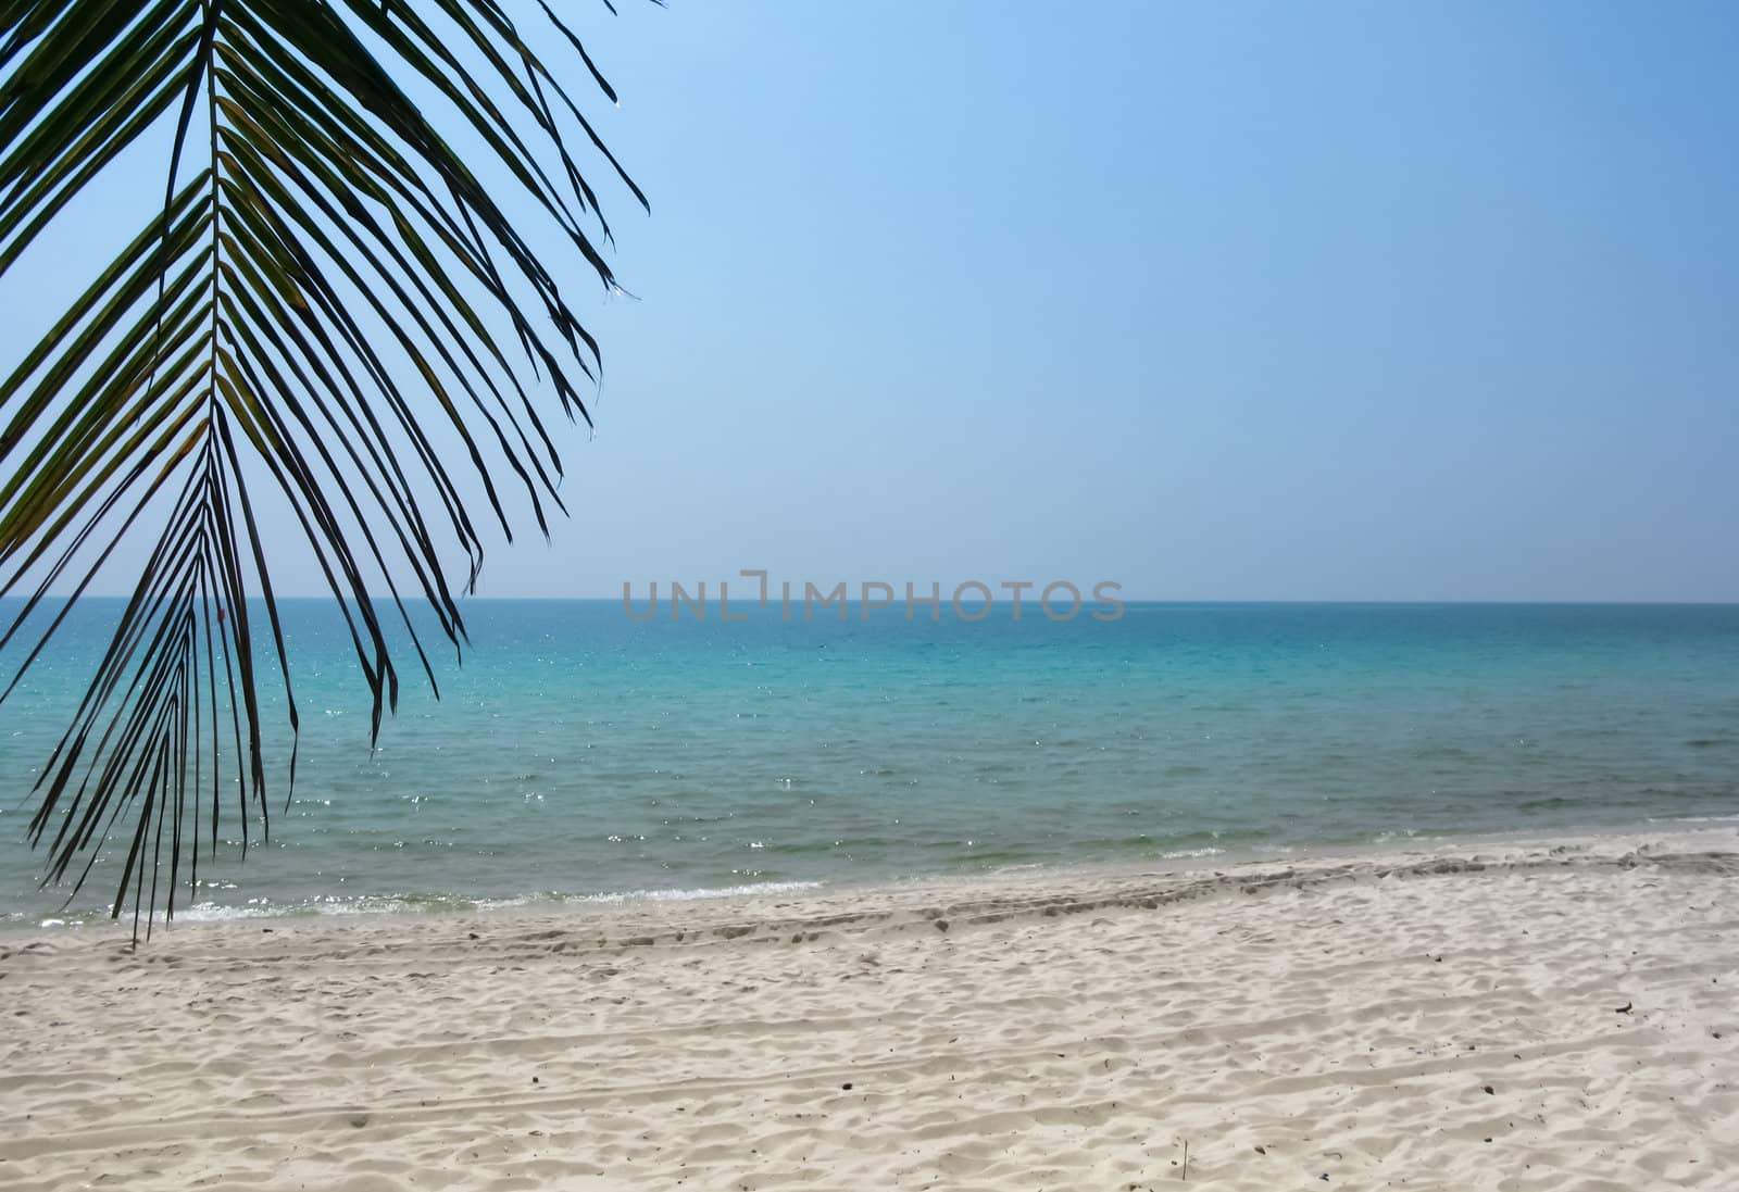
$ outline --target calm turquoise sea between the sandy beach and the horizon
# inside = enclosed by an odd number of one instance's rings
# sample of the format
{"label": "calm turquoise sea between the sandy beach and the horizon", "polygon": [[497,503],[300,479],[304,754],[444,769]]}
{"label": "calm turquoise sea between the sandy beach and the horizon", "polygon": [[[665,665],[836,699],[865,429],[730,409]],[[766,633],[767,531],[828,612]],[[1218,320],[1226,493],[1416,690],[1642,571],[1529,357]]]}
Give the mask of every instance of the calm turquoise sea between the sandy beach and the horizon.
{"label": "calm turquoise sea between the sandy beach and the horizon", "polygon": [[[643,591],[636,596],[643,610]],[[0,705],[0,912],[63,909],[23,843],[37,766],[118,605]],[[1139,605],[977,622],[896,603],[722,624],[473,601],[442,699],[405,655],[369,751],[329,605],[290,601],[303,709],[270,841],[190,917],[706,897],[1017,865],[1739,817],[1739,606]],[[1089,610],[1096,608],[1089,599]],[[9,659],[5,669],[10,676]],[[289,732],[273,716],[273,758]],[[231,815],[228,836],[240,838]]]}

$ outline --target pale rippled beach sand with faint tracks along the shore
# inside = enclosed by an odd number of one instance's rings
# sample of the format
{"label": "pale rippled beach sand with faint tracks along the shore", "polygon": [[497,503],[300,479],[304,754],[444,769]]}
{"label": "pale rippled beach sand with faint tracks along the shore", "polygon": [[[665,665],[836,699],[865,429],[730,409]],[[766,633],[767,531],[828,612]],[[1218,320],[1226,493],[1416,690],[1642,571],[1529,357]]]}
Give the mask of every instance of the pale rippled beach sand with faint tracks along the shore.
{"label": "pale rippled beach sand with faint tracks along the shore", "polygon": [[1736,990],[1730,829],[16,935],[0,1187],[1736,1189]]}

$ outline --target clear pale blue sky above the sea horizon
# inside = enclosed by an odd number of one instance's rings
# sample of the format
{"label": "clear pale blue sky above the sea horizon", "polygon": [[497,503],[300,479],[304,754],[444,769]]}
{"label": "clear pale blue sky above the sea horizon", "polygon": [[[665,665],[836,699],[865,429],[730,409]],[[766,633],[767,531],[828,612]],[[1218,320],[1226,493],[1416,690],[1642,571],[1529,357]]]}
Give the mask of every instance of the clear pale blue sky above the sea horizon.
{"label": "clear pale blue sky above the sea horizon", "polygon": [[1739,7],[619,7],[642,301],[485,594],[1739,599]]}

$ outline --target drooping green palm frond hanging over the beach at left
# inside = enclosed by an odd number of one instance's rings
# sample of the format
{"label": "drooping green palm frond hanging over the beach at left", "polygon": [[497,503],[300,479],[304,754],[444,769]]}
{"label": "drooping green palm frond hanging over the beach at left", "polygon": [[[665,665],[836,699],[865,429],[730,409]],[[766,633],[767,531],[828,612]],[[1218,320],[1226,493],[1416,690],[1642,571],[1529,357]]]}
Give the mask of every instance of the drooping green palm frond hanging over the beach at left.
{"label": "drooping green palm frond hanging over the beach at left", "polygon": [[[464,641],[471,493],[508,539],[516,502],[543,530],[562,509],[536,393],[590,422],[600,365],[562,280],[614,285],[591,174],[645,196],[562,78],[614,89],[548,3],[525,16],[560,71],[497,0],[0,0],[0,278],[170,136],[162,198],[0,381],[0,596],[19,598],[0,700],[117,551],[150,547],[30,820],[70,897],[125,850],[113,914],[132,907],[136,938],[230,815],[243,851],[270,827],[273,671],[294,784],[263,504],[343,612],[376,737],[398,650],[435,683],[410,603]],[[550,236],[565,259],[534,248]]]}

